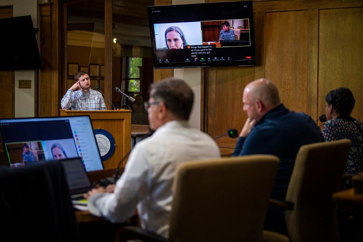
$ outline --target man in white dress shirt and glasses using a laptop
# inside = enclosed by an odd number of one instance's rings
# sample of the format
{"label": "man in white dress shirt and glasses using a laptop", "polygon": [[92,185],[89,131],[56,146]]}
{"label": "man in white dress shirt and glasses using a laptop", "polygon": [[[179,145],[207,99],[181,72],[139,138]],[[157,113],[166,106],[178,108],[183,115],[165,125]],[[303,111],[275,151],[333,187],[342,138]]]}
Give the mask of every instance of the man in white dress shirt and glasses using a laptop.
{"label": "man in white dress shirt and glasses using a laptop", "polygon": [[154,134],[136,144],[115,185],[89,192],[88,205],[111,222],[125,221],[137,208],[143,229],[167,238],[176,167],[220,157],[220,151],[210,136],[188,126],[193,92],[184,81],[152,85],[147,106]]}

